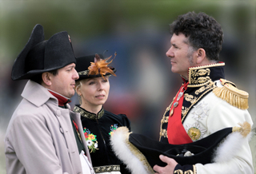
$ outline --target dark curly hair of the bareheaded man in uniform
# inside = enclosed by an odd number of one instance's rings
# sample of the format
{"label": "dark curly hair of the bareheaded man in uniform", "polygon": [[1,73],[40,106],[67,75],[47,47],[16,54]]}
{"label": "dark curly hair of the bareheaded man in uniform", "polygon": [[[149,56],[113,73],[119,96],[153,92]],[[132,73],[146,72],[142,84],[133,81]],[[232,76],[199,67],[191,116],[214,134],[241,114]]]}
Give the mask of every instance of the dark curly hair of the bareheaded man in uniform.
{"label": "dark curly hair of the bareheaded man in uniform", "polygon": [[170,24],[170,34],[184,34],[194,49],[205,49],[210,61],[218,61],[222,50],[223,31],[218,22],[204,13],[189,12]]}

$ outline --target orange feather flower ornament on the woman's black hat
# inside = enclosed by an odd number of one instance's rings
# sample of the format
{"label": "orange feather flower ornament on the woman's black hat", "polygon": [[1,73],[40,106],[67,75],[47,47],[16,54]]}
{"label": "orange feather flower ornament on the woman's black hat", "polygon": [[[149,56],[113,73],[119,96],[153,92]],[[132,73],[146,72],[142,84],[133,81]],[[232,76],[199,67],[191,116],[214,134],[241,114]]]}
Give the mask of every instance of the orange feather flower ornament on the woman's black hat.
{"label": "orange feather flower ornament on the woman's black hat", "polygon": [[[114,53],[114,58],[116,57],[117,53]],[[107,65],[109,65],[114,58],[110,61],[110,62],[106,62],[108,61],[112,56],[106,58],[105,60],[101,59],[101,57],[99,57],[99,55],[96,53],[95,57],[94,57],[94,62],[90,62],[90,66],[89,66],[89,73],[88,75],[98,75],[101,74],[102,77],[105,79],[104,75],[106,75],[106,73],[111,73],[112,75],[116,76],[115,73],[113,72],[112,69],[110,69],[110,67],[108,67]]]}

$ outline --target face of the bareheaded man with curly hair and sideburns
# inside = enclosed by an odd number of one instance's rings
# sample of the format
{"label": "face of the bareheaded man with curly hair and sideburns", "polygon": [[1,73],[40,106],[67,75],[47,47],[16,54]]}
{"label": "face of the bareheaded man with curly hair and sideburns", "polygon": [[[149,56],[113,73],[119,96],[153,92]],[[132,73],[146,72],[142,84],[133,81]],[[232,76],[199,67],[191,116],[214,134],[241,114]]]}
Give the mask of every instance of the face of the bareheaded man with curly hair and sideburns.
{"label": "face of the bareheaded man with curly hair and sideburns", "polygon": [[188,69],[195,65],[192,47],[184,34],[173,34],[170,39],[170,49],[166,56],[170,57],[171,71],[187,77]]}

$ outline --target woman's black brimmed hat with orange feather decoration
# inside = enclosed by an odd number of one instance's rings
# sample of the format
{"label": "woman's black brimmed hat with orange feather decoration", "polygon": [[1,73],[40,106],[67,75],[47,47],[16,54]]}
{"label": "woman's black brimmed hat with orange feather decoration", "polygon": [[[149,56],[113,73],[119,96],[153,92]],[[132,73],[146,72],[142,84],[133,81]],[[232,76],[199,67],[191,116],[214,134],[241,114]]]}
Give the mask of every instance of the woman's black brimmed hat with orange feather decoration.
{"label": "woman's black brimmed hat with orange feather decoration", "polygon": [[[106,61],[108,58],[104,58],[102,56],[102,54],[94,54],[94,55],[90,55],[90,56],[84,56],[84,57],[77,57],[77,64],[75,69],[78,72],[79,75],[79,79],[78,80],[82,80],[82,79],[86,79],[86,78],[94,78],[94,77],[102,77],[102,76],[108,76],[110,74],[113,74],[115,76],[115,72],[116,69],[108,64]],[[100,68],[95,66],[95,63],[98,61],[102,61],[103,64],[105,64],[105,66],[100,66]],[[90,68],[94,66],[95,71],[93,71],[93,69],[90,71]],[[105,68],[107,69],[107,71],[100,73],[101,69]],[[97,71],[97,72],[96,72]],[[96,72],[96,73],[95,73]],[[113,72],[113,73],[112,73]]]}

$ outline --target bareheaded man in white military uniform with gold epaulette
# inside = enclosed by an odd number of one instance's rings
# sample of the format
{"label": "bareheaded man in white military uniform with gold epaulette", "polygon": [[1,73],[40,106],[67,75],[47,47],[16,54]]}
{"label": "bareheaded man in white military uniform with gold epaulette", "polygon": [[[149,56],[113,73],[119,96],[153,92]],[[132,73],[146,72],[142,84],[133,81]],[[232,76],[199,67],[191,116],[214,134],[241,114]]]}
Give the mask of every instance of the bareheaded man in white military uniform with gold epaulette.
{"label": "bareheaded man in white military uniform with gold epaulette", "polygon": [[[253,125],[248,108],[248,93],[224,77],[224,62],[218,61],[222,49],[222,28],[204,13],[189,12],[170,25],[171,70],[184,81],[161,121],[160,141],[189,144],[218,130],[247,121]],[[154,166],[158,173],[254,173],[248,140],[226,159],[210,164],[178,164],[160,156],[166,167]],[[229,149],[224,149],[228,151]]]}

